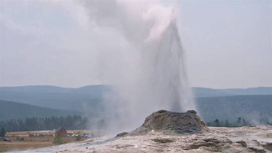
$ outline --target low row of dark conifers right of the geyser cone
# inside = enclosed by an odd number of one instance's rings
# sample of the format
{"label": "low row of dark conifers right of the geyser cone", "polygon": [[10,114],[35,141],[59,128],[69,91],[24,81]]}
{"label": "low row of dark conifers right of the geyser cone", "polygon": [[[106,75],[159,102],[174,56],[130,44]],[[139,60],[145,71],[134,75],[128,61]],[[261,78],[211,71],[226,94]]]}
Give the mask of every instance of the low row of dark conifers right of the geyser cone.
{"label": "low row of dark conifers right of the geyser cone", "polygon": [[[237,121],[230,122],[229,120],[226,120],[225,122],[219,121],[219,119],[215,119],[212,122],[207,122],[207,126],[213,126],[213,127],[242,127],[242,126],[249,126],[256,123],[252,123],[250,121],[247,121],[241,117],[237,118]],[[272,125],[272,122],[263,122],[261,119],[258,121],[258,125]]]}

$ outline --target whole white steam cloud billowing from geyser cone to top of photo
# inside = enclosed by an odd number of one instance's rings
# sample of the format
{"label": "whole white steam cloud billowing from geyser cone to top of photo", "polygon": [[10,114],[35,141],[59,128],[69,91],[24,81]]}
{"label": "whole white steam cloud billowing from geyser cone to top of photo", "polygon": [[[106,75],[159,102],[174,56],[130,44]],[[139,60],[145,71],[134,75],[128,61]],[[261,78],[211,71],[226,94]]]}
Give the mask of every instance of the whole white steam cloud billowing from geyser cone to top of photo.
{"label": "whole white steam cloud billowing from geyser cone to top of photo", "polygon": [[88,1],[89,22],[101,33],[99,78],[113,87],[105,95],[111,130],[139,126],[160,109],[195,109],[175,12],[157,2]]}

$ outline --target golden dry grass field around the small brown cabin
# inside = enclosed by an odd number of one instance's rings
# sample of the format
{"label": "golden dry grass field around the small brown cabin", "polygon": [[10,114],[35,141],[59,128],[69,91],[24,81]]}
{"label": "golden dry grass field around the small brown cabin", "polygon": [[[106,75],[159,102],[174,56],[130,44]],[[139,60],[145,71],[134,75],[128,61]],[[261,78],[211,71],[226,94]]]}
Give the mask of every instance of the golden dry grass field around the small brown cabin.
{"label": "golden dry grass field around the small brown cabin", "polygon": [[[89,133],[89,130],[67,130],[67,133]],[[35,149],[41,147],[53,146],[53,136],[29,136],[29,134],[52,134],[53,130],[48,131],[23,131],[23,132],[7,132],[6,138],[12,142],[0,141],[0,152],[11,151],[11,150],[25,150]],[[17,140],[17,137],[24,138],[24,141]],[[63,137],[65,142],[72,142],[76,140],[76,137]],[[86,140],[87,138],[82,138]]]}

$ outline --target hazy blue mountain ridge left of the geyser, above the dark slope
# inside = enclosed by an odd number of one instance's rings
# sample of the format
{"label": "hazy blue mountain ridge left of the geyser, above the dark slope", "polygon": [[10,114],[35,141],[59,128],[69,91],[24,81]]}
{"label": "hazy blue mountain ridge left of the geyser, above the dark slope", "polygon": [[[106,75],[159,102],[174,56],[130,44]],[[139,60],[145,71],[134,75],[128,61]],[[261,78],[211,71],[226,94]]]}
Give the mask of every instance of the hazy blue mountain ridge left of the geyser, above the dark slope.
{"label": "hazy blue mountain ridge left of the geyser, above the dark slope", "polygon": [[56,86],[0,87],[0,99],[48,108],[82,111],[84,107],[96,107],[103,94],[110,90],[107,85],[81,88]]}

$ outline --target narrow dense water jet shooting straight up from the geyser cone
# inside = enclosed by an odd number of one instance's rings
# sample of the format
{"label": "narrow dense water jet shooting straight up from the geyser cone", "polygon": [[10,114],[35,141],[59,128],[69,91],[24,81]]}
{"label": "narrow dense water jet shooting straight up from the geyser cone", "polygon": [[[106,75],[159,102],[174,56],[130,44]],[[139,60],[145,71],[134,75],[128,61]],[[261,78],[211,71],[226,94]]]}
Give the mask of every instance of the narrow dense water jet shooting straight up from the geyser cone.
{"label": "narrow dense water jet shooting straight up from the geyser cone", "polygon": [[[171,21],[160,37],[149,42],[142,52],[148,77],[146,85],[150,87],[150,101],[170,111],[195,109],[187,82],[184,64],[184,52],[175,21]],[[146,68],[146,67],[144,67]]]}

